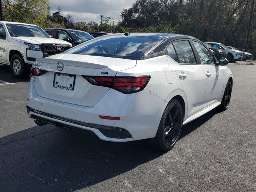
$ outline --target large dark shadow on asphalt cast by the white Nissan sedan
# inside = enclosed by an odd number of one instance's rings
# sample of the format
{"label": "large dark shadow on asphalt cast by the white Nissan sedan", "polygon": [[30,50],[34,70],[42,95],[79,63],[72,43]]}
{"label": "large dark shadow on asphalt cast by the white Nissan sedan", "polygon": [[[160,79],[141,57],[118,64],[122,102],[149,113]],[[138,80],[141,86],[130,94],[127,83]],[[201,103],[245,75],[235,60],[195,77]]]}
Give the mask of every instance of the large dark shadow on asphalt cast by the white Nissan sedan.
{"label": "large dark shadow on asphalt cast by the white Nissan sedan", "polygon": [[[217,112],[212,110],[186,124],[180,138]],[[164,153],[150,148],[145,140],[106,142],[52,125],[34,126],[0,138],[0,191],[76,191]]]}

